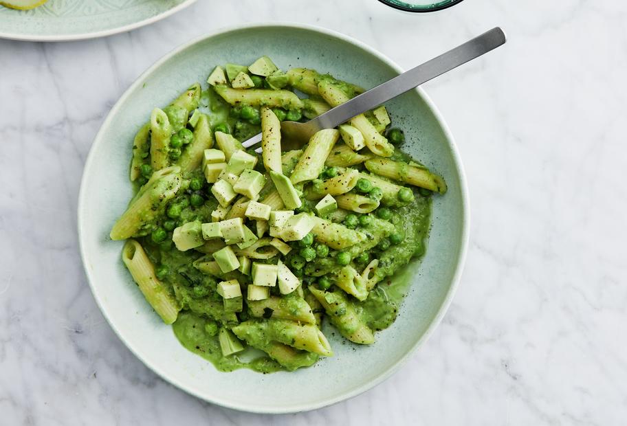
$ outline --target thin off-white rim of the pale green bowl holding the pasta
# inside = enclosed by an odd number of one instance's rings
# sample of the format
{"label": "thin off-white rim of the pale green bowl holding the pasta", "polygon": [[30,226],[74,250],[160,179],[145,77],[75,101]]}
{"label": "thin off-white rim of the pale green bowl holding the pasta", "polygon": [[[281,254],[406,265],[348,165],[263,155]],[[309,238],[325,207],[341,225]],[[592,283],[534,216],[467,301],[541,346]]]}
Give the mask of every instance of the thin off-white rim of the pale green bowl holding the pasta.
{"label": "thin off-white rim of the pale green bowl holding the pasta", "polygon": [[144,363],[144,366],[151,369],[153,372],[155,372],[155,374],[157,374],[159,377],[164,379],[164,381],[171,383],[175,385],[175,387],[179,388],[180,390],[184,390],[188,394],[192,394],[193,396],[196,396],[198,399],[207,401],[209,403],[213,403],[216,405],[220,405],[222,407],[227,407],[232,410],[239,410],[243,412],[251,412],[251,413],[258,413],[258,414],[290,414],[290,413],[296,413],[296,412],[306,412],[310,410],[316,410],[318,408],[327,407],[329,405],[346,401],[355,396],[358,396],[359,394],[362,394],[363,392],[366,392],[366,390],[370,390],[374,388],[376,385],[382,383],[382,381],[391,377],[392,374],[397,372],[399,368],[401,368],[401,366],[403,366],[408,361],[408,359],[412,356],[412,354],[414,354],[416,350],[420,348],[431,337],[434,330],[440,324],[445,313],[448,311],[448,308],[452,302],[456,289],[459,286],[459,281],[461,279],[461,273],[463,271],[463,267],[465,264],[467,246],[468,246],[468,241],[469,241],[468,227],[470,223],[470,208],[469,208],[469,200],[468,200],[467,181],[466,181],[466,176],[465,176],[465,172],[463,169],[463,164],[461,162],[461,157],[459,156],[459,151],[454,142],[452,133],[450,132],[448,125],[443,120],[443,117],[441,116],[441,113],[439,112],[437,107],[434,105],[432,100],[427,96],[427,94],[423,91],[423,89],[421,89],[421,87],[417,87],[415,90],[419,93],[423,101],[426,102],[427,106],[432,111],[436,120],[438,120],[443,130],[443,133],[445,135],[445,138],[448,142],[452,159],[454,162],[454,166],[456,167],[457,172],[459,173],[459,184],[460,184],[461,203],[462,203],[461,211],[462,211],[462,216],[463,216],[462,224],[461,224],[461,244],[457,248],[457,253],[456,253],[459,261],[456,264],[455,271],[453,273],[453,278],[452,278],[450,287],[448,289],[448,292],[445,295],[443,303],[441,304],[441,306],[439,306],[439,309],[437,311],[437,314],[434,317],[434,320],[429,324],[425,333],[423,333],[423,335],[416,341],[414,346],[412,346],[410,350],[408,350],[404,355],[402,355],[398,359],[398,361],[396,361],[396,363],[394,363],[393,366],[391,366],[391,368],[388,368],[387,370],[383,371],[375,379],[369,382],[363,383],[362,385],[357,386],[356,388],[354,388],[353,390],[349,392],[345,392],[344,394],[334,396],[329,399],[320,399],[318,401],[312,401],[310,403],[300,403],[298,405],[290,405],[290,406],[281,407],[281,408],[277,408],[277,407],[267,408],[263,406],[243,405],[243,404],[237,403],[236,401],[221,400],[216,397],[208,398],[207,396],[199,394],[199,392],[196,392],[195,390],[189,388],[188,385],[183,383],[183,381],[180,381],[179,379],[177,379],[177,377],[170,377],[170,375],[164,374],[163,372],[161,372],[158,366],[154,366],[152,363],[148,362],[146,359],[141,357],[135,351],[131,342],[126,341],[122,337],[122,335],[120,334],[120,330],[118,330],[118,328],[113,324],[111,318],[109,318],[109,313],[107,313],[107,311],[105,311],[102,307],[103,304],[100,299],[100,295],[98,294],[98,290],[93,284],[95,280],[92,279],[91,272],[89,271],[89,268],[87,268],[87,265],[88,265],[87,253],[85,249],[85,244],[83,243],[83,238],[85,238],[85,234],[83,232],[83,227],[84,227],[83,223],[87,220],[87,217],[84,216],[83,214],[83,212],[85,211],[85,208],[83,206],[85,205],[85,203],[87,203],[86,201],[87,188],[85,186],[85,181],[87,179],[87,175],[89,175],[89,170],[92,167],[92,164],[94,163],[94,161],[96,161],[96,155],[94,154],[95,153],[94,146],[96,146],[96,144],[103,143],[102,138],[104,135],[104,131],[111,125],[111,122],[113,122],[113,117],[118,113],[118,110],[122,107],[122,105],[126,103],[126,99],[129,98],[129,96],[131,96],[131,93],[133,93],[135,89],[137,89],[140,85],[142,85],[145,78],[147,78],[150,74],[152,74],[153,71],[161,67],[167,60],[170,60],[170,58],[172,58],[179,52],[182,52],[185,49],[188,49],[188,47],[191,47],[192,45],[195,45],[196,43],[201,43],[202,41],[208,38],[212,38],[214,36],[226,34],[229,32],[237,32],[241,30],[254,30],[254,29],[268,28],[268,27],[291,28],[295,30],[309,30],[309,31],[319,32],[320,34],[323,34],[326,36],[339,38],[341,41],[351,43],[355,45],[356,47],[363,49],[366,53],[371,54],[375,56],[376,58],[382,60],[384,63],[386,63],[386,65],[392,67],[398,73],[403,72],[403,69],[399,67],[399,65],[397,65],[393,60],[384,56],[380,52],[377,52],[377,50],[373,49],[369,45],[366,45],[366,43],[363,43],[362,41],[358,41],[355,38],[352,38],[351,36],[347,36],[340,32],[329,30],[324,27],[318,27],[317,25],[301,24],[301,23],[294,23],[294,22],[281,22],[281,21],[278,21],[278,22],[273,21],[273,22],[266,22],[266,23],[247,23],[247,24],[240,24],[240,25],[231,25],[228,27],[221,27],[217,30],[209,32],[208,34],[203,34],[202,36],[195,37],[192,40],[186,43],[183,43],[179,45],[178,47],[175,47],[175,49],[171,50],[170,52],[162,56],[162,58],[159,58],[159,60],[153,63],[153,65],[148,67],[146,71],[144,71],[140,76],[138,76],[137,79],[129,86],[129,88],[126,89],[126,91],[124,91],[124,93],[122,94],[118,102],[115,102],[115,104],[111,108],[111,111],[109,111],[109,113],[107,114],[107,117],[102,122],[100,129],[98,130],[98,133],[96,134],[96,137],[94,138],[94,142],[91,145],[89,154],[87,155],[87,160],[85,161],[85,167],[83,168],[83,177],[80,180],[80,190],[78,193],[77,227],[78,227],[78,243],[80,247],[80,258],[81,258],[81,261],[83,262],[83,269],[85,270],[85,275],[87,276],[87,282],[89,284],[89,288],[91,290],[92,295],[94,295],[94,299],[96,300],[98,309],[100,309],[100,312],[104,316],[105,320],[107,320],[107,323],[109,323],[109,326],[111,326],[111,328],[113,329],[113,332],[124,343],[126,348],[129,348],[129,350],[133,353],[133,355],[135,355],[135,357],[137,357],[138,359],[140,359],[140,361],[142,361],[142,363]]}

